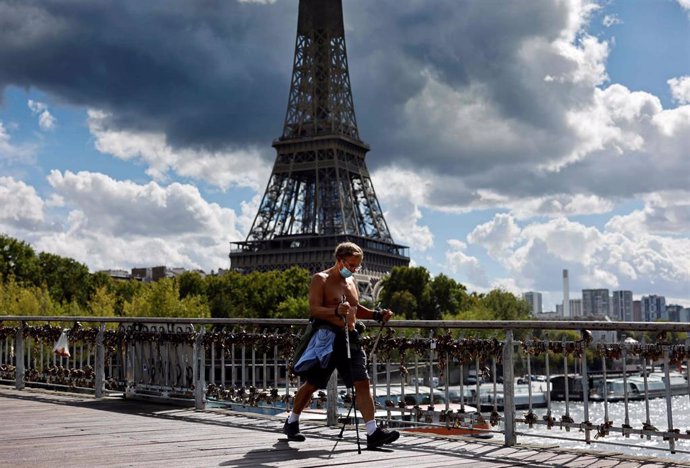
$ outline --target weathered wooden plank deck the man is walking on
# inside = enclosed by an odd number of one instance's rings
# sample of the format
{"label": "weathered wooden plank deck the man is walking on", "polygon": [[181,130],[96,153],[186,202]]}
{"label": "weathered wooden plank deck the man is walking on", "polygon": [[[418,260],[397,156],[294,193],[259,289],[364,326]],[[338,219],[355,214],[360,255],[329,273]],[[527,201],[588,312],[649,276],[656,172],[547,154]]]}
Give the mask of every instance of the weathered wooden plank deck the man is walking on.
{"label": "weathered wooden plank deck the man is walking on", "polygon": [[[390,451],[357,454],[354,431],[303,422],[288,443],[283,421],[232,413],[0,386],[0,466],[175,467],[671,467],[690,464],[563,451],[500,441],[404,434]],[[672,457],[672,455],[669,455]]]}

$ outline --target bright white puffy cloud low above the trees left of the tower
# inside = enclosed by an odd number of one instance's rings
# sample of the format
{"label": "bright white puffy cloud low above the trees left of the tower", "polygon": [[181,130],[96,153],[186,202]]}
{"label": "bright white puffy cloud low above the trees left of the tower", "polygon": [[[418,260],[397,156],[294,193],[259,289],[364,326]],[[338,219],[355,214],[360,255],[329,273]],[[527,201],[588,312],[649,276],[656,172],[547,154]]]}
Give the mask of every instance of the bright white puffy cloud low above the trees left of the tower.
{"label": "bright white puffy cloud low above the trees left of the tower", "polygon": [[[235,213],[196,187],[136,184],[92,172],[52,171],[50,203],[33,187],[0,178],[0,225],[39,251],[74,258],[92,270],[167,265],[228,267]],[[65,214],[66,213],[66,216]]]}

